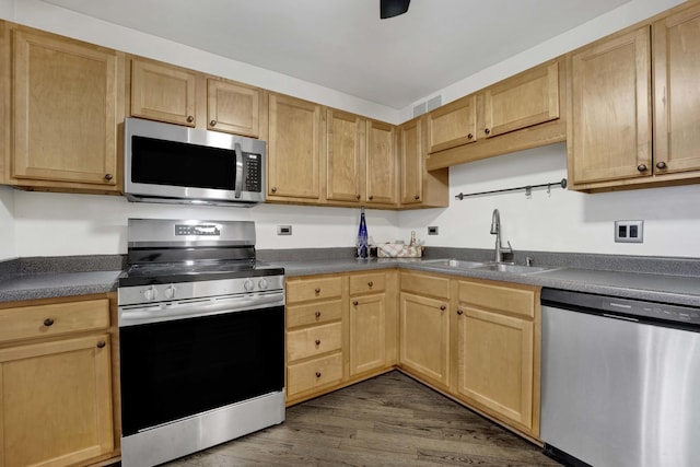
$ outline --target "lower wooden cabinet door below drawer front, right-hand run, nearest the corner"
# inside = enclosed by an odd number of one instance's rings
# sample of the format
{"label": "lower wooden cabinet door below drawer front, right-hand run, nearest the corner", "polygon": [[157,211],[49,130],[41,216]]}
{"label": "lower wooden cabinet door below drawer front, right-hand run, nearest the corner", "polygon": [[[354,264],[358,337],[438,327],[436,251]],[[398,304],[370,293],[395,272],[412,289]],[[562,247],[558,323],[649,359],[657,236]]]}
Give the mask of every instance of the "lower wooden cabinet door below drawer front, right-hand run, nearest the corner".
{"label": "lower wooden cabinet door below drawer front, right-hand run, nearest the corner", "polygon": [[428,382],[450,381],[450,300],[400,293],[399,365]]}

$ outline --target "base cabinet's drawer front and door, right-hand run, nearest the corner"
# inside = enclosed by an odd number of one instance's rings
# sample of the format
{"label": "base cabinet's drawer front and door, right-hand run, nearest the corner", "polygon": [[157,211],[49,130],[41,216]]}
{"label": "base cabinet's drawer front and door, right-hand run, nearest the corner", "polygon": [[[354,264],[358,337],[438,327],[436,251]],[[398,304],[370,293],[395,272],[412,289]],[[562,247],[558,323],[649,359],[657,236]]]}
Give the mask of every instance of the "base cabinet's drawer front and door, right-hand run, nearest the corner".
{"label": "base cabinet's drawer front and door, right-hand run, nearest the corner", "polygon": [[450,279],[401,271],[399,367],[441,389],[450,383]]}

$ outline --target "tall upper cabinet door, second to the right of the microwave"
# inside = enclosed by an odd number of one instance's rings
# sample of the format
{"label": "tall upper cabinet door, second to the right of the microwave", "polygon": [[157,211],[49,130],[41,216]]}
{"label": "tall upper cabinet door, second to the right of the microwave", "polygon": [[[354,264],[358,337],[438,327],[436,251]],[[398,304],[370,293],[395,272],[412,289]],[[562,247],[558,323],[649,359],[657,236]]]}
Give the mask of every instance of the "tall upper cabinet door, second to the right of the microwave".
{"label": "tall upper cabinet door, second to the right of the microwave", "polygon": [[364,119],[346,112],[326,110],[326,199],[362,200]]}

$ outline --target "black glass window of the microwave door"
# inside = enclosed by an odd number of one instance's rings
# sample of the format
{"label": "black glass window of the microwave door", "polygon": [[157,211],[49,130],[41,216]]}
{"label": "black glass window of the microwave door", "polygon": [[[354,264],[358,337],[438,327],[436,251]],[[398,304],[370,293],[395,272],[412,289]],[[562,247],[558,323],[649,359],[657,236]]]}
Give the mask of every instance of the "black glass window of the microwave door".
{"label": "black glass window of the microwave door", "polygon": [[132,183],[231,190],[235,180],[236,157],[231,149],[131,139]]}

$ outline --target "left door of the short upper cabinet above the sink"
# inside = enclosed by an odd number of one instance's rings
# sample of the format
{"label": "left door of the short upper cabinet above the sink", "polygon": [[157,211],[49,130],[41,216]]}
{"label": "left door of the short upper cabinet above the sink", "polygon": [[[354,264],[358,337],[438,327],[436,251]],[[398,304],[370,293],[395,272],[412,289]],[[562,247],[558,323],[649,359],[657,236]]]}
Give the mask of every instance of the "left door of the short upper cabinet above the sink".
{"label": "left door of the short upper cabinet above the sink", "polygon": [[443,151],[476,140],[476,95],[462,97],[428,114],[428,152]]}

